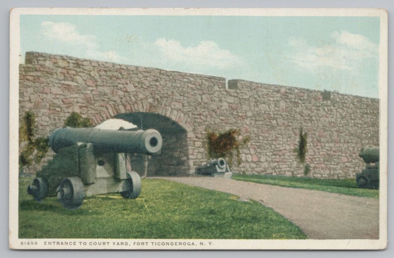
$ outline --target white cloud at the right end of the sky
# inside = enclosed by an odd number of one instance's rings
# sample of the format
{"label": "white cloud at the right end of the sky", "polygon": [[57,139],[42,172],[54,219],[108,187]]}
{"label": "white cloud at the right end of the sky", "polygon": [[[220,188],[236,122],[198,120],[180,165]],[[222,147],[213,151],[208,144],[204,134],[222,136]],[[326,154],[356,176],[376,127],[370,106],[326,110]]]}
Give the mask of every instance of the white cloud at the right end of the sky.
{"label": "white cloud at the right end of the sky", "polygon": [[[312,46],[302,37],[291,37],[288,45],[292,47],[291,60],[297,65],[315,69],[358,69],[362,62],[378,58],[378,45],[366,37],[346,31],[332,32],[333,42],[321,47]],[[365,65],[364,65],[365,66]]]}

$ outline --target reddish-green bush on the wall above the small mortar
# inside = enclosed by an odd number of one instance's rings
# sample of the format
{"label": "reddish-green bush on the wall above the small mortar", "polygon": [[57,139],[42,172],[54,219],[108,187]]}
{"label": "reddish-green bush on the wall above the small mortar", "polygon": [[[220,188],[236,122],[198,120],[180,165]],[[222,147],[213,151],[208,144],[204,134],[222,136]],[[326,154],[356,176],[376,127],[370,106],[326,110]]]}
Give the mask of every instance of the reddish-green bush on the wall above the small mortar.
{"label": "reddish-green bush on the wall above the small mortar", "polygon": [[229,129],[225,132],[207,131],[207,140],[208,158],[226,158],[231,166],[234,152],[237,164],[241,164],[240,148],[248,144],[250,137],[242,137],[239,129]]}

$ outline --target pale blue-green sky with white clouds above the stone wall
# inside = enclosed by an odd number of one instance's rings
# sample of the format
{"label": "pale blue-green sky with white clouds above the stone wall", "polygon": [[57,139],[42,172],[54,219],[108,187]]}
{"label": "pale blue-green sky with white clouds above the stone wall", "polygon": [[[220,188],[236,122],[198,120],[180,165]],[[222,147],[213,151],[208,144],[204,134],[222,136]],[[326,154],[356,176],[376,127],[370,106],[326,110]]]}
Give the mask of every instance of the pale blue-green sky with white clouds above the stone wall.
{"label": "pale blue-green sky with white clouds above the stone wall", "polygon": [[21,15],[27,51],[378,98],[379,17]]}

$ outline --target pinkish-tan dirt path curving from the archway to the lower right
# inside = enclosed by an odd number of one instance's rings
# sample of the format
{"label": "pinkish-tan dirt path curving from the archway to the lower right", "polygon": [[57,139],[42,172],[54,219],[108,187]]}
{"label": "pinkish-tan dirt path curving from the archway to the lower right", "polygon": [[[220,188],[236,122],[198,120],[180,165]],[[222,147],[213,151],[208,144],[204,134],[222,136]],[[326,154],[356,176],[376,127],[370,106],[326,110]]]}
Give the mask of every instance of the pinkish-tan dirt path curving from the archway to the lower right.
{"label": "pinkish-tan dirt path curving from the archway to the lower right", "polygon": [[311,239],[379,238],[377,198],[333,194],[213,177],[162,179],[253,199],[273,208],[299,226]]}

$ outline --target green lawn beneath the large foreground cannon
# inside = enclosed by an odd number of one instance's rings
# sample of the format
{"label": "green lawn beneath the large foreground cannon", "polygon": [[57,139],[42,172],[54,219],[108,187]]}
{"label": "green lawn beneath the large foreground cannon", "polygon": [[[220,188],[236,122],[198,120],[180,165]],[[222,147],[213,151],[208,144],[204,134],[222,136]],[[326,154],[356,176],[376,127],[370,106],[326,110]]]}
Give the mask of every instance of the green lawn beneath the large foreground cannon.
{"label": "green lawn beneath the large foreground cannon", "polygon": [[262,204],[157,179],[143,179],[136,199],[120,194],[85,198],[74,211],[56,199],[41,202],[19,181],[20,238],[305,239],[293,223]]}

